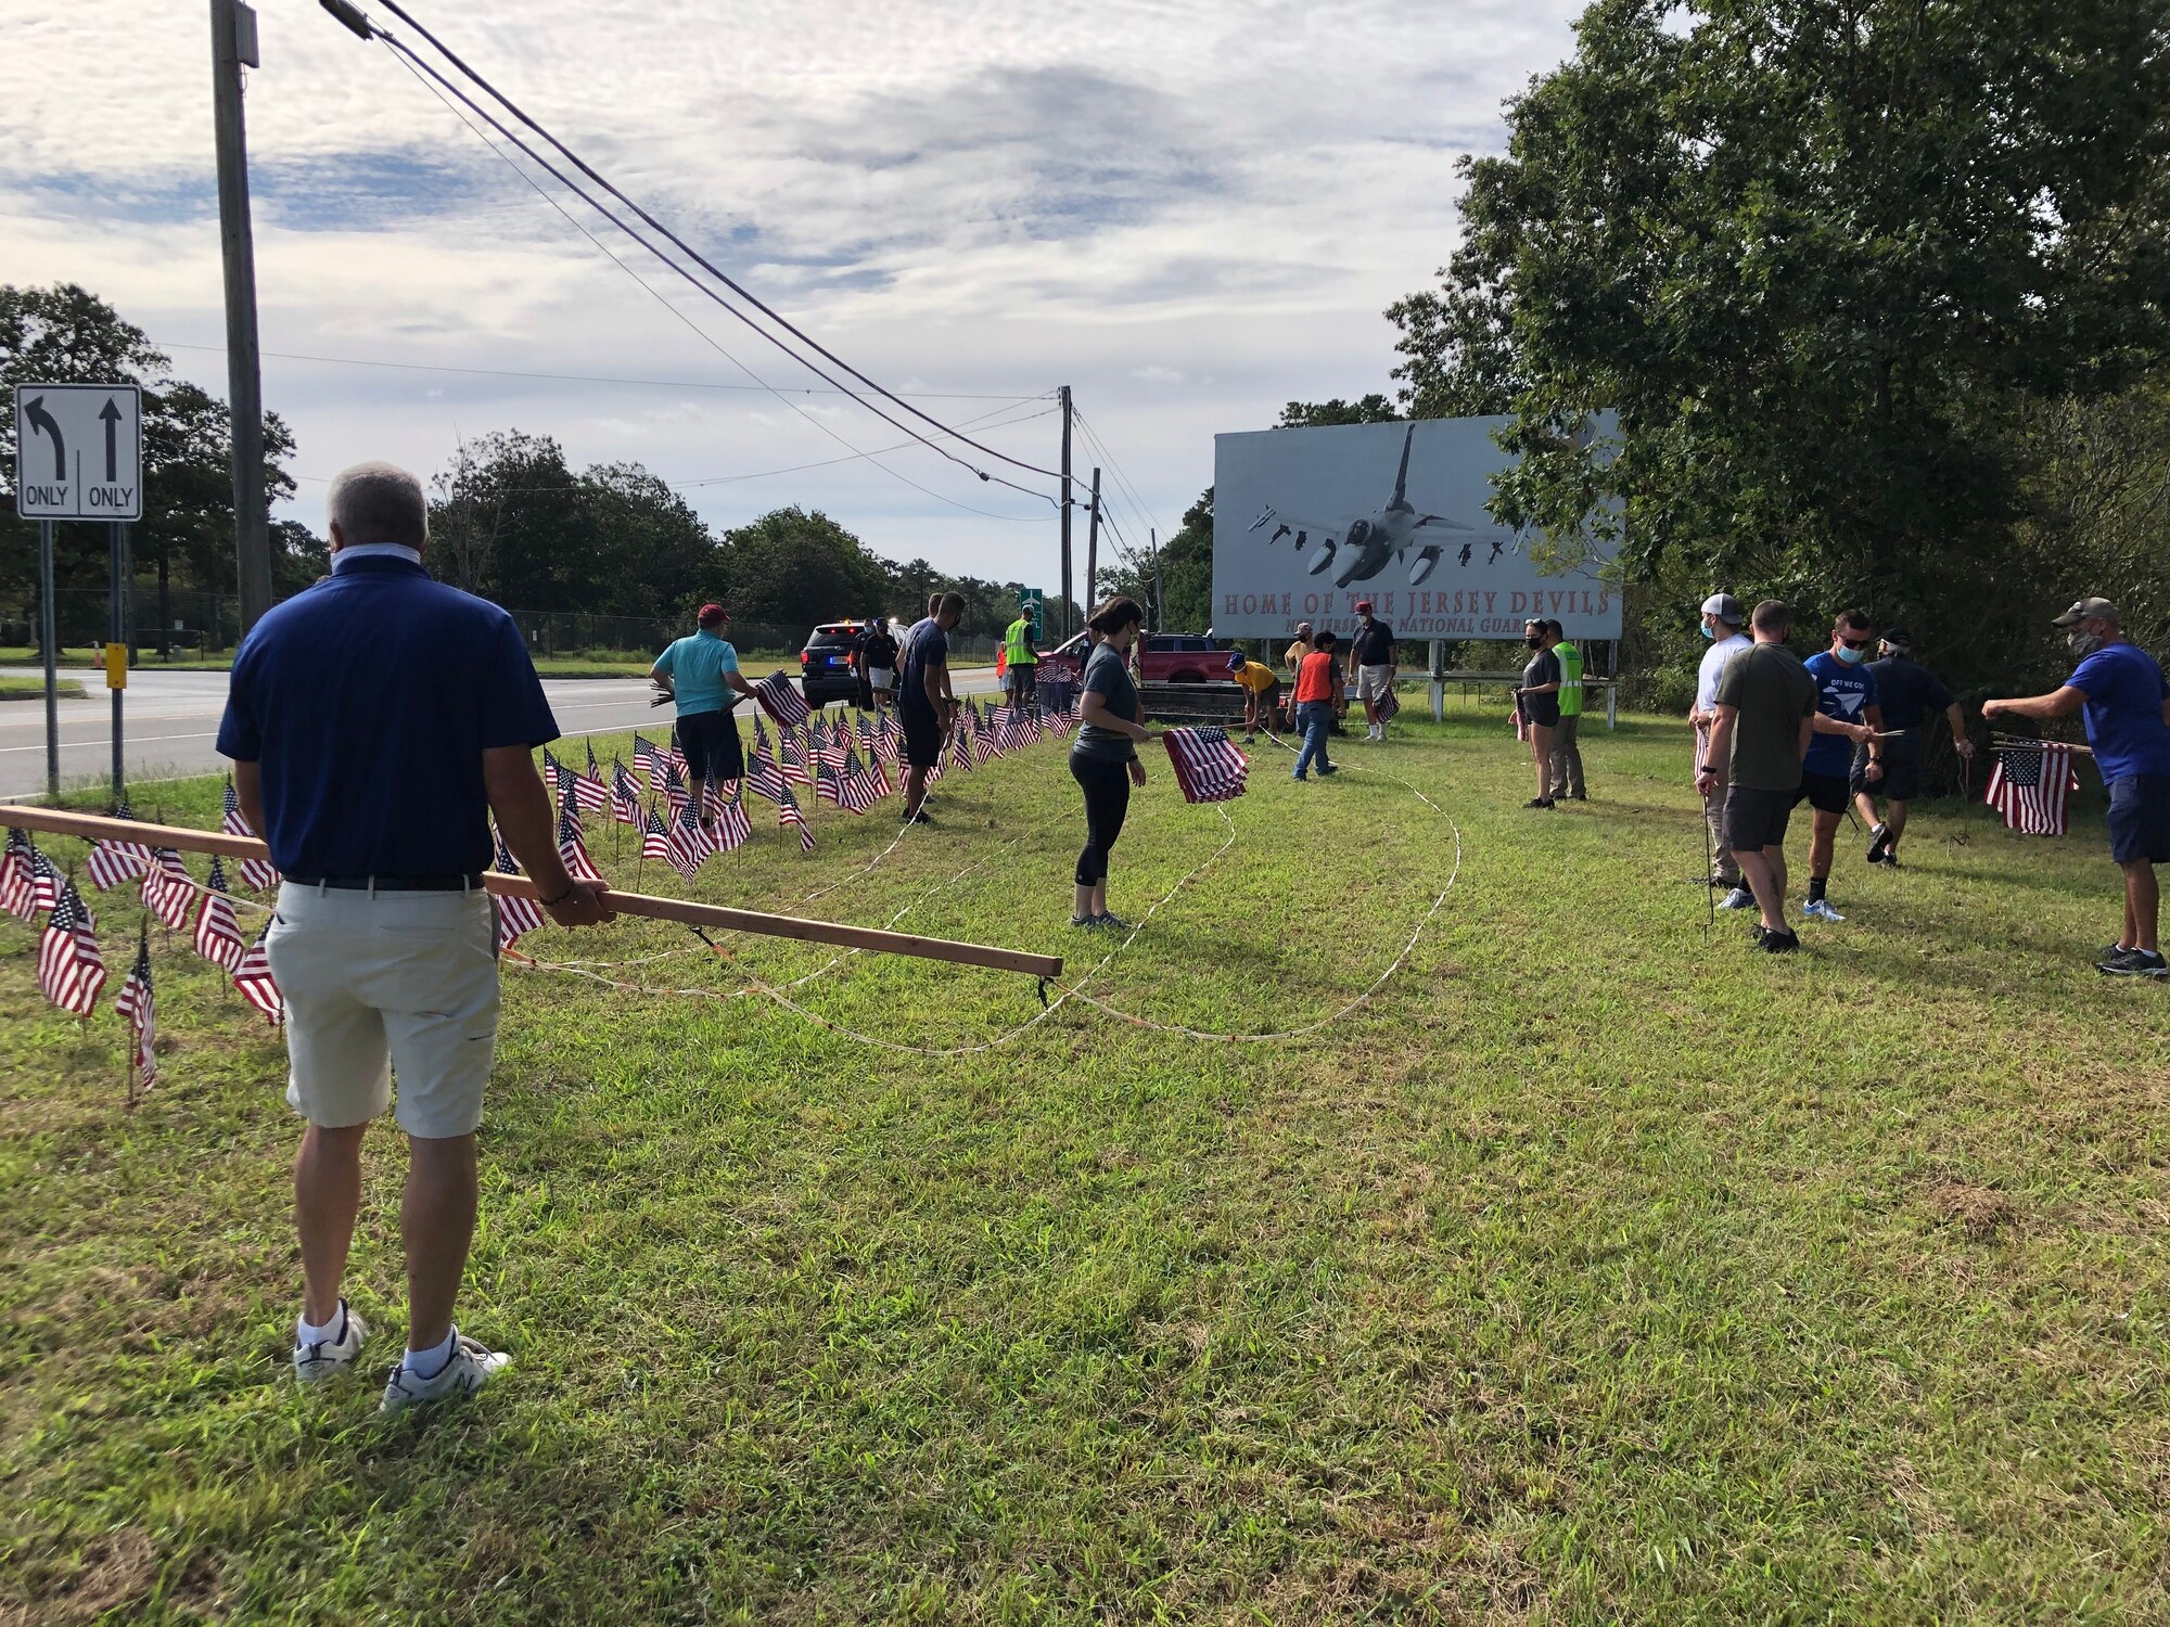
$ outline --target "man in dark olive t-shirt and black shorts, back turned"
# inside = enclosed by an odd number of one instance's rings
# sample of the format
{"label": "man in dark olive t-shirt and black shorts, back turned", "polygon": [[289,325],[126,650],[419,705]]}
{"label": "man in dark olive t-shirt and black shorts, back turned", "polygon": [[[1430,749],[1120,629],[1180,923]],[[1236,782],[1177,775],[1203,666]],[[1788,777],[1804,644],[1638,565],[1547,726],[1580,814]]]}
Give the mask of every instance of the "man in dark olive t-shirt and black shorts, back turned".
{"label": "man in dark olive t-shirt and black shorts, back turned", "polygon": [[1788,955],[1801,939],[1786,926],[1786,822],[1801,800],[1801,757],[1816,716],[1816,679],[1790,649],[1792,610],[1764,599],[1749,618],[1756,642],[1719,675],[1710,746],[1695,790],[1710,798],[1725,764],[1725,844],[1762,911],[1753,946]]}

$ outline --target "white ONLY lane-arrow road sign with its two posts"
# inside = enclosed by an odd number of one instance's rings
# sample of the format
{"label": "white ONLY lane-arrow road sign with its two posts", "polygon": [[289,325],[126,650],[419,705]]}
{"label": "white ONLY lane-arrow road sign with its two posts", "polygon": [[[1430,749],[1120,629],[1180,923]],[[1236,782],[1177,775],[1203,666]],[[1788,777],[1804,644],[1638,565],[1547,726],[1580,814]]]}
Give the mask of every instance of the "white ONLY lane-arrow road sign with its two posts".
{"label": "white ONLY lane-arrow road sign with its two posts", "polygon": [[15,386],[15,514],[37,521],[41,633],[46,642],[46,794],[61,794],[59,627],[54,616],[52,523],[102,521],[113,568],[111,640],[122,646],[113,690],[113,798],[122,796],[122,690],[128,686],[126,521],[143,518],[143,393],[135,384]]}

